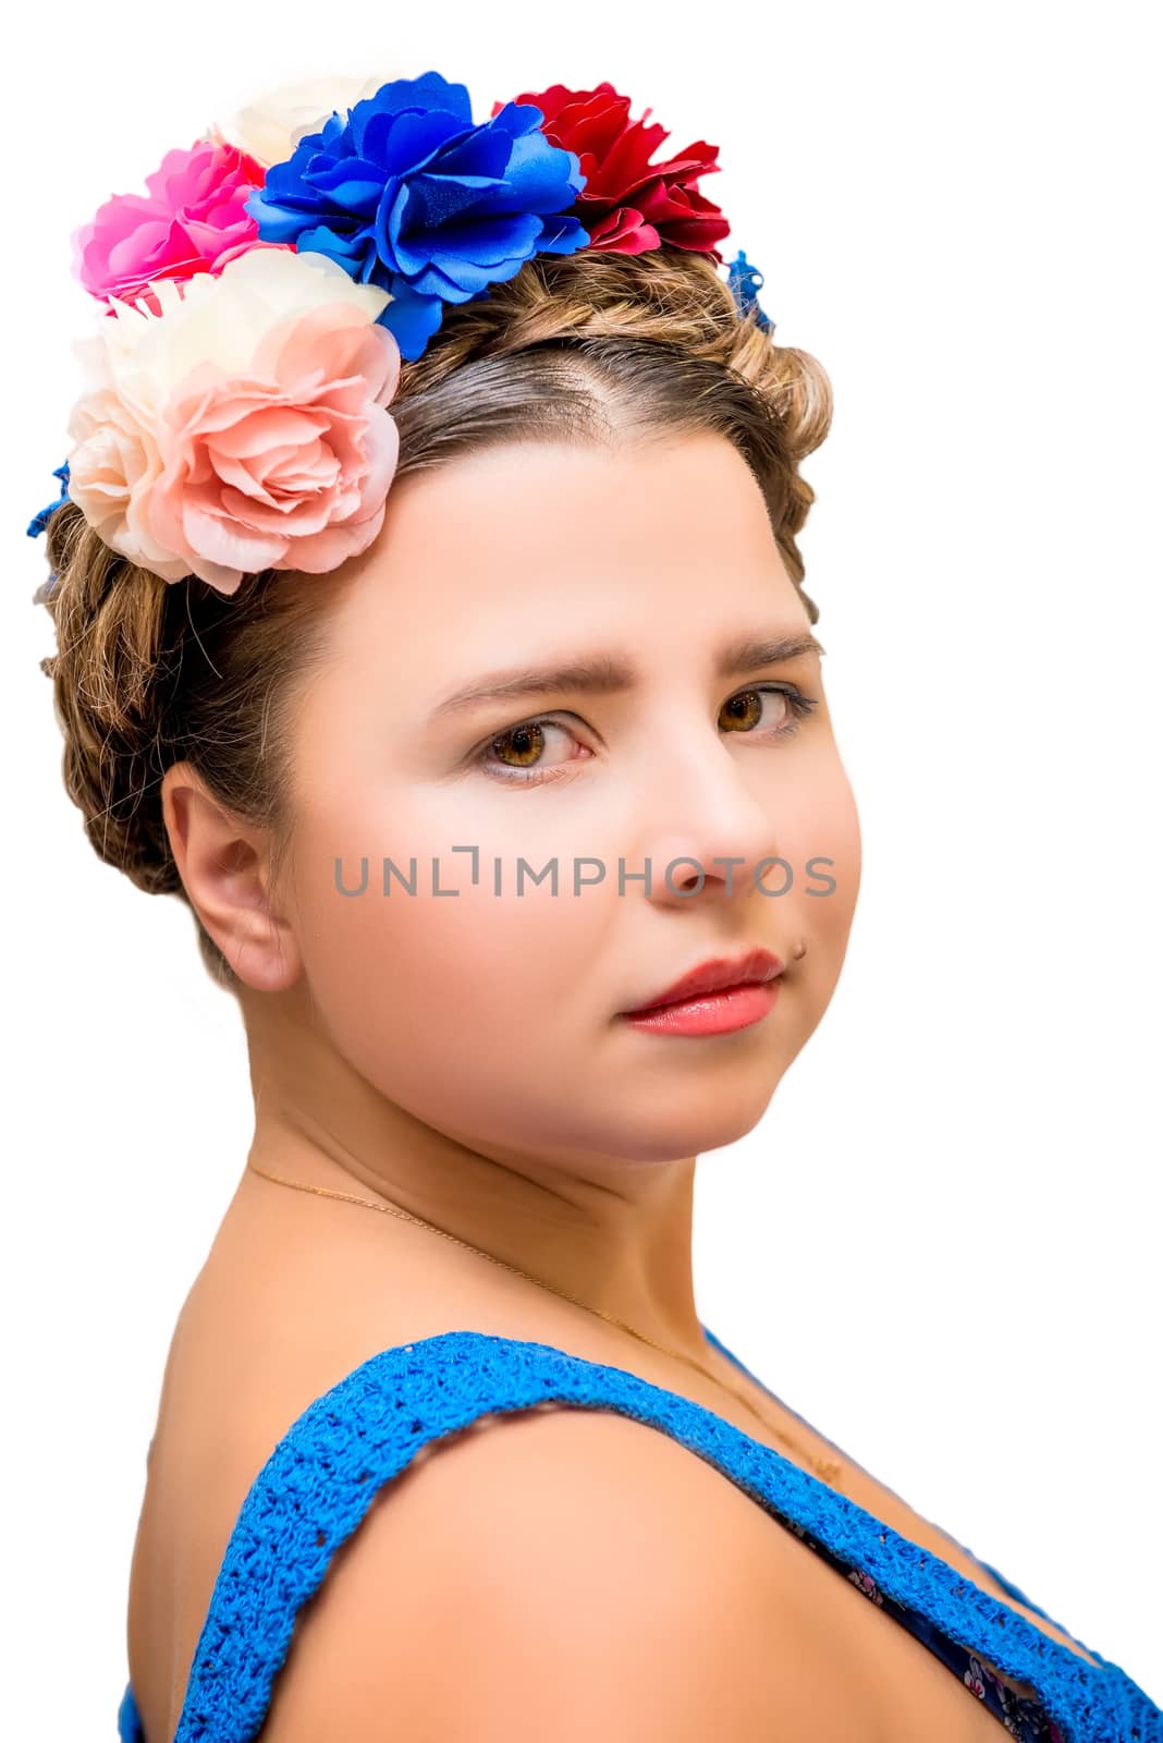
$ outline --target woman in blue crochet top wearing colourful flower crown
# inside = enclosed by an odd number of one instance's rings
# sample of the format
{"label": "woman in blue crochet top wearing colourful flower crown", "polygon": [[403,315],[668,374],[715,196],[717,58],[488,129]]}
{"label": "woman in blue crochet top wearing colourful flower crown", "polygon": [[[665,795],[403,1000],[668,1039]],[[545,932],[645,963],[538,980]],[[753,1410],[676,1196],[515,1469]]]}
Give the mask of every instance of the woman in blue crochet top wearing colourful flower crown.
{"label": "woman in blue crochet top wearing colourful flower crown", "polygon": [[820,1021],[860,837],[796,542],[829,382],[660,138],[427,73],[78,239],[66,781],[190,903],[256,1107],[127,1743],[1163,1719],[695,1307],[695,1159]]}

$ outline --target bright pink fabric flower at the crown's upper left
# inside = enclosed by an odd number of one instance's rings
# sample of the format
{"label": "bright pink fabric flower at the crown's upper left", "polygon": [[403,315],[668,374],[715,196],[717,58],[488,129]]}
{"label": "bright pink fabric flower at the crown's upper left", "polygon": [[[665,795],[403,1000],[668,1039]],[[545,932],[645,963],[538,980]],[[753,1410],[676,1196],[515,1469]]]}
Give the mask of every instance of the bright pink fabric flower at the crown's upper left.
{"label": "bright pink fabric flower at the crown's upper left", "polygon": [[145,298],[157,309],[151,279],[181,282],[195,272],[221,272],[256,246],[258,225],[245,200],[265,174],[252,157],[221,141],[167,152],[146,176],[146,197],[115,193],[73,234],[73,272],[92,296]]}

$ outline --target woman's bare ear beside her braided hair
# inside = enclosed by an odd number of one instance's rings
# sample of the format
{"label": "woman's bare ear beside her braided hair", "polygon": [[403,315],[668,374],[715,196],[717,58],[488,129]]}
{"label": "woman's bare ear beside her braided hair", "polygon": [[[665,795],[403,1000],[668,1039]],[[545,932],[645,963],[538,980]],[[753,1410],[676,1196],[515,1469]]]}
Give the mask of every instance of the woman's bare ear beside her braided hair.
{"label": "woman's bare ear beside her braided hair", "polygon": [[188,762],[162,779],[162,817],[185,891],[245,987],[284,992],[303,969],[272,889],[270,830],[226,810]]}

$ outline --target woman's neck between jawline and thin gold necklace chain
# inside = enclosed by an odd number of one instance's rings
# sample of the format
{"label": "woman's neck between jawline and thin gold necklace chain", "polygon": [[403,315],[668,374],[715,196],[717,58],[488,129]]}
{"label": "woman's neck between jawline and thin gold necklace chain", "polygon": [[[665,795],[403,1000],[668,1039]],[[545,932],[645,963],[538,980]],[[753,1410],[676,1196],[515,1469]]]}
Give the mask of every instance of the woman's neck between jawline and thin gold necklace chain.
{"label": "woman's neck between jawline and thin gold necklace chain", "polygon": [[[277,1046],[251,1034],[251,1082],[258,1168],[385,1201],[512,1265],[529,1288],[705,1358],[691,1274],[695,1157],[468,1143],[385,1098],[301,1030]],[[303,1217],[317,1213],[317,1197],[294,1196]],[[352,1217],[367,1211],[352,1206]],[[447,1262],[451,1245],[430,1239],[432,1264]],[[385,1238],[385,1264],[390,1251]]]}

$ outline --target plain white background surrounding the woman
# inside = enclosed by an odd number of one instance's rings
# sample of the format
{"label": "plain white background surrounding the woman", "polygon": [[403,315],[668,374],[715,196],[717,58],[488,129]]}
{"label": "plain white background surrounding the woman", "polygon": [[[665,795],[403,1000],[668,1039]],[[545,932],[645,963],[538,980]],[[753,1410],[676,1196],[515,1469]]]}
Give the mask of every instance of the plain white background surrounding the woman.
{"label": "plain white background surrounding the woman", "polygon": [[[1163,1701],[1160,275],[1147,7],[24,9],[9,44],[5,1560],[12,1736],[113,1738],[174,1318],[251,1136],[178,901],[59,777],[45,573],[94,305],[70,234],[306,73],[602,78],[703,192],[836,422],[803,535],[864,828],[832,1007],[700,1164],[702,1318]],[[420,21],[428,21],[420,28]],[[9,33],[12,26],[5,28]],[[12,1633],[9,1633],[12,1644]]]}

